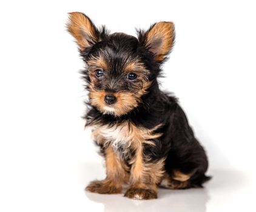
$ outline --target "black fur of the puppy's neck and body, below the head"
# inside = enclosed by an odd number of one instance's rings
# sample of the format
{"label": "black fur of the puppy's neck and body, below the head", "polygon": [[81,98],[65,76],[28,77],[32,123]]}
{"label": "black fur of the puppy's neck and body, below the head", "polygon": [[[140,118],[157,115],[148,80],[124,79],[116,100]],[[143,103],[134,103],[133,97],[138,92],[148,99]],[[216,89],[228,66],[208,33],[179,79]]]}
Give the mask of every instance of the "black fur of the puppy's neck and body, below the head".
{"label": "black fur of the puppy's neck and body, below the head", "polygon": [[165,164],[167,173],[171,175],[173,169],[178,169],[185,174],[194,173],[190,179],[190,187],[202,187],[204,182],[211,179],[204,175],[208,168],[204,148],[195,138],[187,122],[186,114],[177,99],[160,91],[158,85],[155,87],[143,98],[144,104],[150,107],[140,105],[129,114],[120,117],[101,114],[96,108],[91,108],[84,118],[90,116],[94,120],[98,119],[101,123],[110,125],[129,120],[145,128],[164,124],[158,129],[163,136],[154,141],[155,146],[145,145],[144,154],[150,157],[151,162],[167,156]]}

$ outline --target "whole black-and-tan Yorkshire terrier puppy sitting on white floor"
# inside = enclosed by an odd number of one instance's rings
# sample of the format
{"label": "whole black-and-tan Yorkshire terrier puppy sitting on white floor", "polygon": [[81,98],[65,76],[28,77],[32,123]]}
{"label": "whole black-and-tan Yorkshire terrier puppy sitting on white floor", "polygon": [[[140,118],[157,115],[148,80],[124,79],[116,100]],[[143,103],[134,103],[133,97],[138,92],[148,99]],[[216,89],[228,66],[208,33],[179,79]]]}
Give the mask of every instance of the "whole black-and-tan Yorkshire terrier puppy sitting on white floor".
{"label": "whole black-and-tan Yorkshire terrier puppy sitting on white floor", "polygon": [[158,186],[202,187],[210,178],[204,148],[177,99],[157,81],[173,47],[173,23],[158,22],[135,38],[110,34],[74,12],[67,28],[86,64],[86,127],[106,161],[106,179],[90,182],[86,190],[116,194],[128,184],[124,196],[155,199]]}

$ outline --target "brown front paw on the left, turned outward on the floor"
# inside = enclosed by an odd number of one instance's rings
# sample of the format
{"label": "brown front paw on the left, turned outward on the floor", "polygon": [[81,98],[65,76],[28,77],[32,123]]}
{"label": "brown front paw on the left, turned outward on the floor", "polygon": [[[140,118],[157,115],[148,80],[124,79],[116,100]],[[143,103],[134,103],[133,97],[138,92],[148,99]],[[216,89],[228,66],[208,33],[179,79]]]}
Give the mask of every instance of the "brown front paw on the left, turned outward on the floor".
{"label": "brown front paw on the left, turned outward on the floor", "polygon": [[113,182],[109,181],[92,181],[86,187],[86,191],[99,194],[120,194],[121,186],[117,187]]}

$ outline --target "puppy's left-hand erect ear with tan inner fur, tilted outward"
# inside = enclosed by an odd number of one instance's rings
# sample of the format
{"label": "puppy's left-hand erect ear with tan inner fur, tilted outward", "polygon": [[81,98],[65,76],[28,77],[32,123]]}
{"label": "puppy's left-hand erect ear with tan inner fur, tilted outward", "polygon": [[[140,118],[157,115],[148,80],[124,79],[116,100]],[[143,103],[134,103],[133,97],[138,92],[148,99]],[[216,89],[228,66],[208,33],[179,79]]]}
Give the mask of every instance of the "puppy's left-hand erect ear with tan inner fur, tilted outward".
{"label": "puppy's left-hand erect ear with tan inner fur, tilted outward", "polygon": [[69,13],[67,28],[82,51],[99,41],[98,29],[83,13]]}

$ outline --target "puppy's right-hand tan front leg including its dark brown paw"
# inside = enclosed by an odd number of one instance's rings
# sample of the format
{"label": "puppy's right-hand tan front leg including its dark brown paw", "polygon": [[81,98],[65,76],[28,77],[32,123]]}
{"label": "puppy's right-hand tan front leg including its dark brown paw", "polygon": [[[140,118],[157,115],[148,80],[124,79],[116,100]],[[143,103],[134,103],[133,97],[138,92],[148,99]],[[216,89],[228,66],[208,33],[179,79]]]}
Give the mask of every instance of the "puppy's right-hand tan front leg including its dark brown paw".
{"label": "puppy's right-hand tan front leg including its dark brown paw", "polygon": [[132,160],[130,188],[124,196],[130,199],[157,199],[157,184],[163,177],[164,159],[149,162],[143,156],[143,146],[137,148]]}

